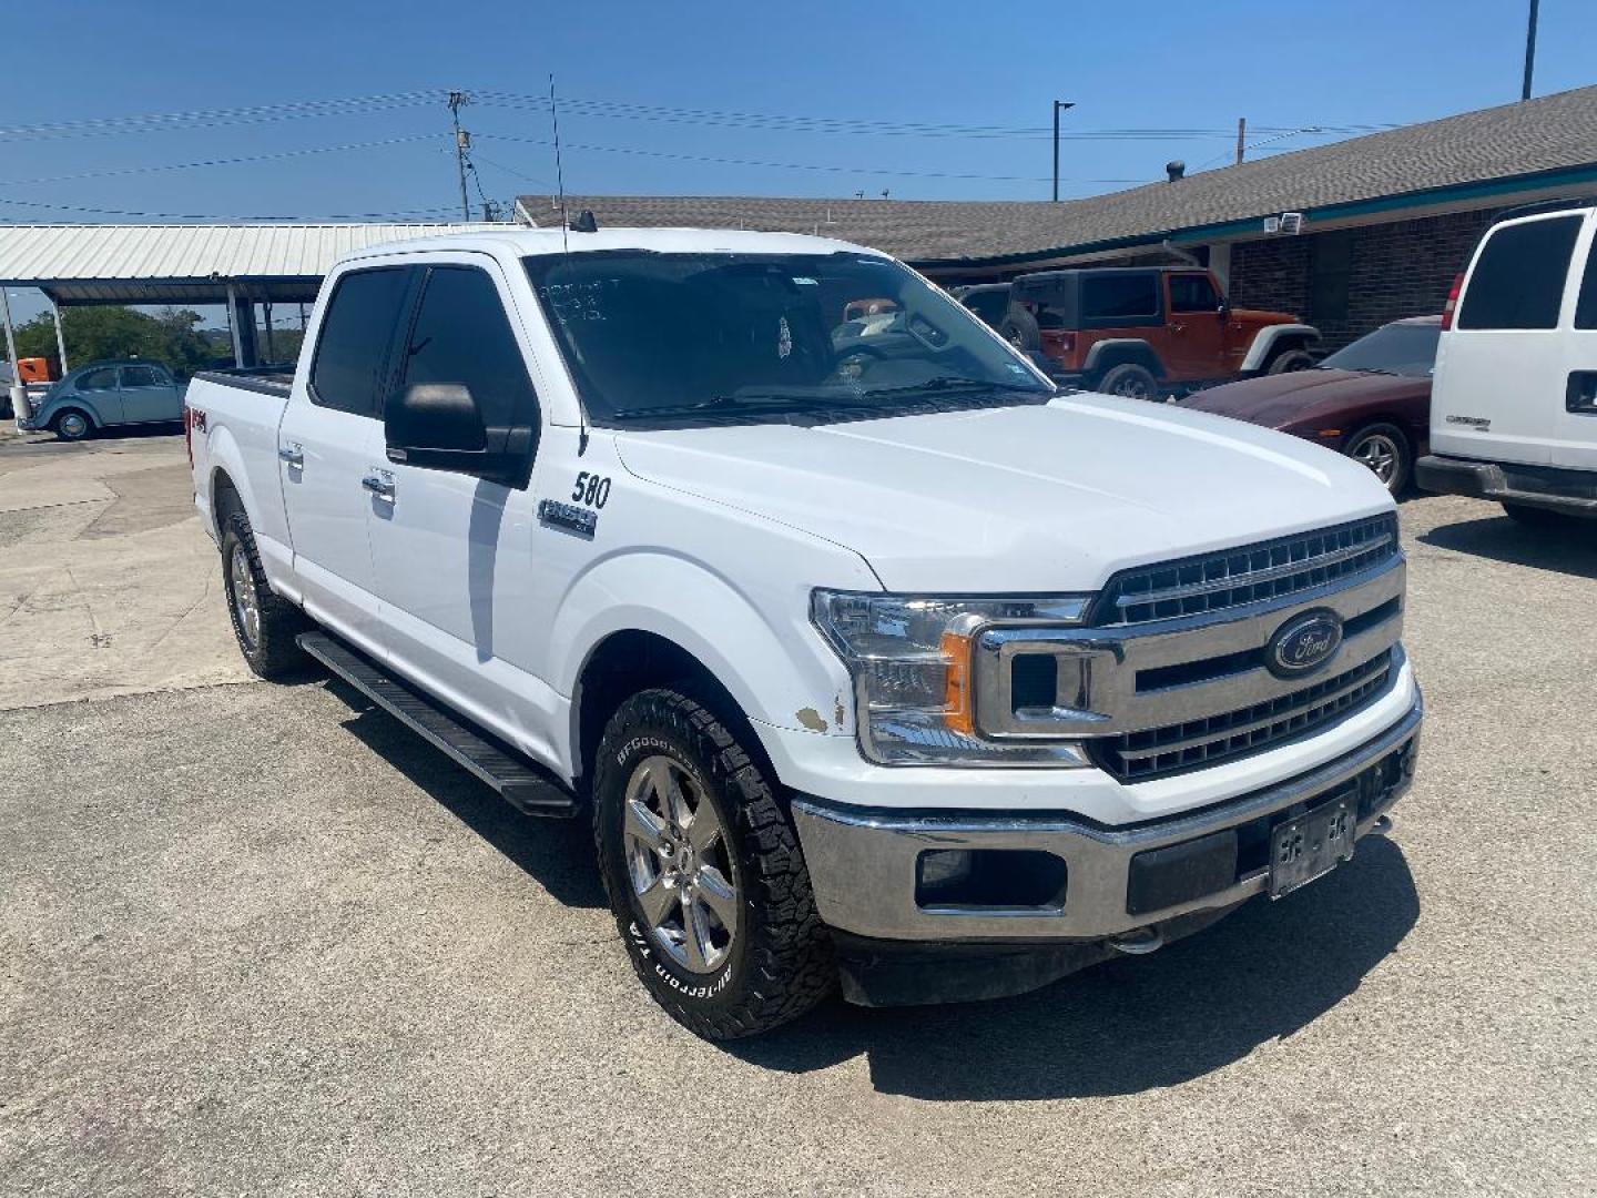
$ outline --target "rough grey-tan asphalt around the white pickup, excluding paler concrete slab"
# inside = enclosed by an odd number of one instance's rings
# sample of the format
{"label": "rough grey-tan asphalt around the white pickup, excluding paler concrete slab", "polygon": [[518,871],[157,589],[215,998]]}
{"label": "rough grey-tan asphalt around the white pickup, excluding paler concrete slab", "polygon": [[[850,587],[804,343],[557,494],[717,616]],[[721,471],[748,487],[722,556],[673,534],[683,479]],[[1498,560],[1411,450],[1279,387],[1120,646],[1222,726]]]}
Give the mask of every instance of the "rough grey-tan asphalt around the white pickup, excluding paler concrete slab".
{"label": "rough grey-tan asphalt around the white pickup, excluding paler concrete slab", "polygon": [[1035,995],[730,1048],[639,989],[585,829],[326,680],[0,712],[0,1193],[1589,1193],[1597,535],[1404,532],[1391,840]]}

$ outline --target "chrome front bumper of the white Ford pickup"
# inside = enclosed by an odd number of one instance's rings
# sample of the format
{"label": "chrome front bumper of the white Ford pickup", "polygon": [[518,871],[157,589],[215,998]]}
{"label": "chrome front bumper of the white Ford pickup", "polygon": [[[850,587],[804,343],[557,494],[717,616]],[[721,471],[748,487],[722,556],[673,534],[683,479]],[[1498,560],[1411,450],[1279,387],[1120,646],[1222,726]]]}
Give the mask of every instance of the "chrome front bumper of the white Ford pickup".
{"label": "chrome front bumper of the white Ford pickup", "polygon": [[[888,941],[1097,941],[1198,910],[1230,907],[1268,890],[1268,863],[1183,902],[1127,910],[1132,858],[1228,829],[1257,834],[1359,783],[1357,835],[1373,831],[1409,789],[1423,703],[1378,736],[1305,775],[1252,794],[1132,827],[1104,827],[1068,815],[898,813],[792,802],[816,906],[830,926]],[[1257,837],[1255,837],[1257,839]],[[1268,832],[1266,832],[1268,842]],[[1065,863],[1064,895],[1027,907],[921,906],[917,871],[934,850],[1035,850]]]}

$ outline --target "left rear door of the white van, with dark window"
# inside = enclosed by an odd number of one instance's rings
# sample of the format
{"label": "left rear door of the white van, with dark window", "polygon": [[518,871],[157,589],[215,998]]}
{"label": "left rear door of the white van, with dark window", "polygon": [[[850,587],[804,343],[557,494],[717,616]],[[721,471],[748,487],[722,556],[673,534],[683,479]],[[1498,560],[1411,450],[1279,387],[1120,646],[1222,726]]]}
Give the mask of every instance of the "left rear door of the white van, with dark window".
{"label": "left rear door of the white van, with dark window", "polygon": [[1480,243],[1437,353],[1434,452],[1552,462],[1568,380],[1559,316],[1584,222],[1581,212],[1528,216]]}

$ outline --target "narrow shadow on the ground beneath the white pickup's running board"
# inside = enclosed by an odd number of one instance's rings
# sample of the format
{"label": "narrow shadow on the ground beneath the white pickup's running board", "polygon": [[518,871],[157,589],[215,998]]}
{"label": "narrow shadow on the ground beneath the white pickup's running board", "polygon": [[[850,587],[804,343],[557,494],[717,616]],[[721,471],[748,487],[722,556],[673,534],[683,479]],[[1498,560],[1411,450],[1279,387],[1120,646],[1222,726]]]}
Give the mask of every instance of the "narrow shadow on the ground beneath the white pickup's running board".
{"label": "narrow shadow on the ground beneath the white pickup's running board", "polygon": [[329,676],[318,680],[353,709],[343,727],[356,740],[493,845],[551,898],[569,907],[608,906],[588,819],[533,819],[522,815],[355,687]]}

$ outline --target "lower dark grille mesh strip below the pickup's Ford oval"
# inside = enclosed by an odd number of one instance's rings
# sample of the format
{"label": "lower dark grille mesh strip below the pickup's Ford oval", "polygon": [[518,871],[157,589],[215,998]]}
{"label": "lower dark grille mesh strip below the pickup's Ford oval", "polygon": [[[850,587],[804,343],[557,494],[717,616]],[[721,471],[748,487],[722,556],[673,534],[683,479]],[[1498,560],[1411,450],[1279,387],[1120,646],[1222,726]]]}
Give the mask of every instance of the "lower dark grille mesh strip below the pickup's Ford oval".
{"label": "lower dark grille mesh strip below the pickup's Ford oval", "polygon": [[1321,728],[1372,700],[1391,677],[1391,650],[1349,671],[1266,703],[1220,716],[1127,732],[1092,743],[1100,768],[1142,783],[1230,757],[1263,752],[1276,741]]}

